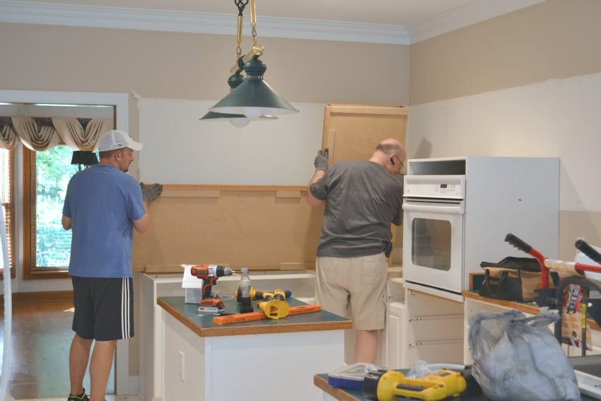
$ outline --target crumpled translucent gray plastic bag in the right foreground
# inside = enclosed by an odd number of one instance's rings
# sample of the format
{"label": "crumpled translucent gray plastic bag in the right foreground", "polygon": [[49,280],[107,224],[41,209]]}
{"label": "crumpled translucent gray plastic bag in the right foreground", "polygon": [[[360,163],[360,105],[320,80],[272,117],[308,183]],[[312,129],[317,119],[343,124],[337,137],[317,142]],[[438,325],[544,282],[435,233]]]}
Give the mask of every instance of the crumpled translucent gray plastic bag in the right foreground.
{"label": "crumpled translucent gray plastic bag in the right foreground", "polygon": [[549,325],[557,313],[541,309],[482,311],[469,318],[472,376],[489,400],[580,400],[576,374]]}

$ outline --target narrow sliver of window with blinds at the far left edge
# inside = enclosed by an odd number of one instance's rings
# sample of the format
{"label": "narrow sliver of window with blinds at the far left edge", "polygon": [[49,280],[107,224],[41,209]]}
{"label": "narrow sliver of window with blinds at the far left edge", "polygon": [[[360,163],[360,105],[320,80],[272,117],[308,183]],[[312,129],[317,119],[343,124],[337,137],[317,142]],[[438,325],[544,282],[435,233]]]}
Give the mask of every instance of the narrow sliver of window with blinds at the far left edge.
{"label": "narrow sliver of window with blinds at the far left edge", "polygon": [[[15,257],[13,250],[14,230],[14,205],[13,205],[13,161],[14,151],[0,149],[0,197],[2,199],[2,211],[4,211],[6,227],[6,243],[8,245],[8,265],[11,269],[11,277],[15,277]],[[0,248],[0,256],[3,250]],[[4,260],[4,257],[3,257]],[[4,269],[4,263],[0,263],[0,272]],[[0,275],[0,278],[2,276]]]}

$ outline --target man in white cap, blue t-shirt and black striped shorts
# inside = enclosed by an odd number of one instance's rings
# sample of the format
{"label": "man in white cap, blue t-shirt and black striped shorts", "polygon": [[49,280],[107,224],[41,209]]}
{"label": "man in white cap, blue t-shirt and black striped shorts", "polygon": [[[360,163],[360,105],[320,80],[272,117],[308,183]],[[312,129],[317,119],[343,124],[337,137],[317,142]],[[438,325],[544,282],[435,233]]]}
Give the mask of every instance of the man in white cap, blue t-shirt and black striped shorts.
{"label": "man in white cap, blue t-shirt and black striped shorts", "polygon": [[[125,174],[134,151],[141,149],[127,132],[105,132],[98,140],[100,162],[76,173],[66,190],[62,225],[72,231],[69,274],[75,306],[68,401],[104,400],[117,340],[134,335],[134,229],[148,230],[148,203],[163,190]],[[93,341],[88,398],[83,377]]]}

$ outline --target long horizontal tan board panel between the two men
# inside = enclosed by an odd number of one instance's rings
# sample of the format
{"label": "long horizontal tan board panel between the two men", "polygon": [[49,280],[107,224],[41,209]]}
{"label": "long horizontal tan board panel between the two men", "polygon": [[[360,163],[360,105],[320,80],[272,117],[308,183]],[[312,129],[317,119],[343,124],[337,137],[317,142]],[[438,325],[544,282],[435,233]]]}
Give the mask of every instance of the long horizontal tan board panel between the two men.
{"label": "long horizontal tan board panel between the two men", "polygon": [[146,265],[223,264],[315,269],[323,208],[301,186],[165,185],[134,235],[135,271]]}

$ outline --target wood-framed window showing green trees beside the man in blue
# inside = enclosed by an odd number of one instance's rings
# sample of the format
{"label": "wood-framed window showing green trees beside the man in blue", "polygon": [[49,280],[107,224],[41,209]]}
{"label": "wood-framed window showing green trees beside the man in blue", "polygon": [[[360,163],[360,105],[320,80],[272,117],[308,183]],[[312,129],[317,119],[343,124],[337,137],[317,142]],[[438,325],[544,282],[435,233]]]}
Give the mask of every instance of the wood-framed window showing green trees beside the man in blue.
{"label": "wood-framed window showing green trees beside the man in blue", "polygon": [[73,151],[59,145],[42,152],[23,151],[25,269],[23,278],[66,277],[71,254],[71,231],[62,227],[66,187],[78,167]]}

